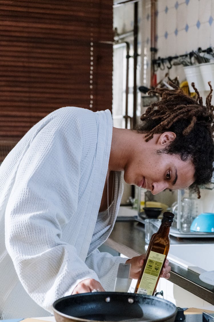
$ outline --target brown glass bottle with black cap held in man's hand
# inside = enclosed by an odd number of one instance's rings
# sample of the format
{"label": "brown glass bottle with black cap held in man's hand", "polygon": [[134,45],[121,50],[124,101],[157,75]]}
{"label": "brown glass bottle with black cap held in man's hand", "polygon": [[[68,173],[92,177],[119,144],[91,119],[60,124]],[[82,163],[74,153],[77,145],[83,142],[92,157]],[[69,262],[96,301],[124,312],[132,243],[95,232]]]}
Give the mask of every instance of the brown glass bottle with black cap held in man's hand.
{"label": "brown glass bottle with black cap held in man's hand", "polygon": [[154,295],[169,251],[169,231],[173,220],[174,214],[165,212],[158,232],[151,236],[135,293]]}

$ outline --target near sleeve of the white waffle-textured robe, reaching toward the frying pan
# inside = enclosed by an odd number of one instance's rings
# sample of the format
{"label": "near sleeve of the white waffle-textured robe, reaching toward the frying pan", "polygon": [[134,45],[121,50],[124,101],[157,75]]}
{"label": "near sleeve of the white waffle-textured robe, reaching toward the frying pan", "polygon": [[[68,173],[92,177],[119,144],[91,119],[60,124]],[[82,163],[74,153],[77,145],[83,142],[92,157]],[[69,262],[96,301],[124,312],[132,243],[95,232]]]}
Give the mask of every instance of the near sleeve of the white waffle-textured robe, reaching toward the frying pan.
{"label": "near sleeve of the white waffle-textured robe, reaching toward the frying pan", "polygon": [[[75,126],[78,133],[78,122]],[[51,313],[53,302],[71,294],[81,280],[99,281],[75,244],[61,239],[78,204],[82,142],[53,128],[50,120],[32,138],[5,211],[5,243],[18,277],[30,297]],[[79,232],[73,227],[70,233]]]}

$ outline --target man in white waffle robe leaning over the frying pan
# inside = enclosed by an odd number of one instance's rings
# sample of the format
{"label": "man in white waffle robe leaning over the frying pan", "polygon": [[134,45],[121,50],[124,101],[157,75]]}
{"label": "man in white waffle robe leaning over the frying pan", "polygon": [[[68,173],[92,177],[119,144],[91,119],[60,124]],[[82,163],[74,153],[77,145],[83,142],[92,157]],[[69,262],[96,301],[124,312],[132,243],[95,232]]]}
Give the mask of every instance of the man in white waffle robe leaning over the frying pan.
{"label": "man in white waffle robe leaning over the frying pan", "polygon": [[[31,128],[5,158],[0,167],[2,318],[46,316],[57,298],[113,290],[118,265],[126,259],[97,248],[113,229],[123,176],[153,194],[188,187],[199,193],[198,185],[210,180],[210,96],[203,107],[183,98],[179,89],[161,94],[163,103],[142,116],[148,128],[113,128],[109,110],[62,108]],[[174,121],[170,115],[180,109],[181,97],[182,106],[191,107],[186,126],[176,112]],[[169,109],[165,126],[167,111],[161,112],[161,104]],[[203,128],[203,142],[189,141],[195,126]],[[204,151],[209,160],[200,171]],[[144,255],[127,260],[131,278],[138,278],[143,260]],[[169,278],[169,271],[166,261],[162,276]]]}

